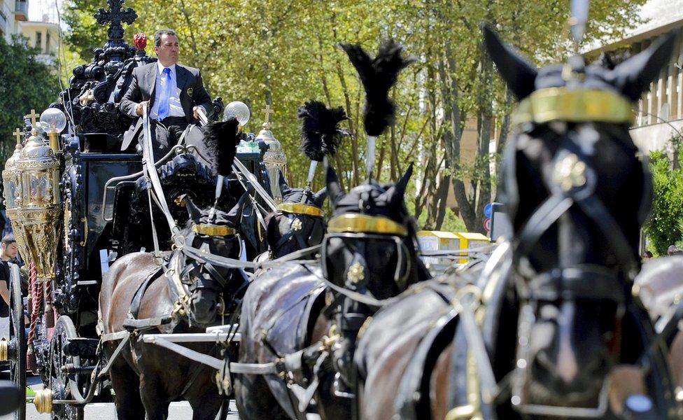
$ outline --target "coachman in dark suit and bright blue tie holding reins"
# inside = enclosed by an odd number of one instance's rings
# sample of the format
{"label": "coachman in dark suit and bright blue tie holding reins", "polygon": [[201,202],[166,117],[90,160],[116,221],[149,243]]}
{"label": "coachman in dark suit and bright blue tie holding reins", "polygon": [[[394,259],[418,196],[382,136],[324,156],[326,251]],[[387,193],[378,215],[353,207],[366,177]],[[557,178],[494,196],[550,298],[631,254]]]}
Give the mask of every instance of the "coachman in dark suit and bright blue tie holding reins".
{"label": "coachman in dark suit and bright blue tie holding reins", "polygon": [[199,69],[178,62],[178,37],[171,29],[154,34],[154,51],[159,61],[136,67],[133,80],[121,99],[120,110],[136,118],[123,135],[121,150],[129,148],[142,131],[142,104],[148,104],[154,160],[159,160],[173,147],[188,125],[197,122],[197,108],[204,112],[211,97],[202,83]]}

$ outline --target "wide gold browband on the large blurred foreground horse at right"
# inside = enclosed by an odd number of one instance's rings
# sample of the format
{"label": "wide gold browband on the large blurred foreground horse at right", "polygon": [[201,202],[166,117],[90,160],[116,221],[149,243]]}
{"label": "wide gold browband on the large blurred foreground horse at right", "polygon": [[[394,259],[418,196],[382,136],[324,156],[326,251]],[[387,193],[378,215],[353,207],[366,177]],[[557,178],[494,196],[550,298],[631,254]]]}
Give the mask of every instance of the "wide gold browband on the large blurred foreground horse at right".
{"label": "wide gold browband on the large blurred foreground horse at right", "polygon": [[549,121],[631,123],[633,104],[626,97],[607,90],[547,87],[523,99],[512,113],[513,125]]}

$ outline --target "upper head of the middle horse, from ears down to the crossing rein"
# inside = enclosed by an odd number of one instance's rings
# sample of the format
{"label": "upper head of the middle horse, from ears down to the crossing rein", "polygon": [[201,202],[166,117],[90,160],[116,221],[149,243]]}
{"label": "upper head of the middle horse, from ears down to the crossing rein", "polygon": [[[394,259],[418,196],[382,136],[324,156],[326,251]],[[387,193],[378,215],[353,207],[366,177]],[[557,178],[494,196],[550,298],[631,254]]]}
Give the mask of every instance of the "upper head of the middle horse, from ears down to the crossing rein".
{"label": "upper head of the middle horse, from ears down to the crossing rein", "polygon": [[411,165],[395,184],[371,181],[344,194],[328,167],[333,216],[322,257],[328,281],[376,299],[393,297],[418,281],[415,228],[404,204],[412,172]]}

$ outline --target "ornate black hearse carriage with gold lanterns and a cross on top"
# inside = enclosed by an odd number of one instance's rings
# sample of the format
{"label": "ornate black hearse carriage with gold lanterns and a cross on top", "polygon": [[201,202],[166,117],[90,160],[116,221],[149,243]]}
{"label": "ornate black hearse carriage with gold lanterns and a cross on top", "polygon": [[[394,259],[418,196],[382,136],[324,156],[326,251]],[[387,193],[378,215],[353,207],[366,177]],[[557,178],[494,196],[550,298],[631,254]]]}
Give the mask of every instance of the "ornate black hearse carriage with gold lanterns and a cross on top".
{"label": "ornate black hearse carriage with gold lanterns and a cross on top", "polygon": [[[24,146],[17,139],[15,154],[3,171],[8,216],[22,257],[31,266],[31,281],[29,302],[24,305],[19,269],[12,270],[10,340],[0,341],[0,360],[10,360],[13,381],[22,390],[27,368],[39,372],[50,395],[39,392],[36,407],[59,419],[83,416],[83,407],[65,402],[72,400],[74,386],[81,395],[91,388],[90,374],[98,363],[97,296],[103,272],[125,253],[153,248],[142,153],[120,151],[131,119],[120,113],[118,103],[133,69],[155,59],[146,55],[144,45],[133,48],[123,41],[122,23],[131,24],[136,13],[123,10],[123,0],[107,3],[110,10],[95,14],[100,25],[109,25],[104,48],[94,50],[92,62],[73,69],[61,102],[43,113],[41,123],[31,112]],[[209,121],[223,114],[220,98],[212,108],[206,116]],[[64,116],[69,121],[66,128]],[[255,175],[262,191],[270,193],[262,159],[266,148],[252,134],[241,136],[237,158]],[[209,169],[201,133],[194,138],[188,136],[157,162],[171,216],[178,224],[188,218],[176,201],[179,196],[188,194],[199,206],[213,203],[215,197],[217,177]],[[225,207],[237,202],[245,182],[236,174],[225,180],[223,188],[230,192],[221,196],[227,200]],[[170,249],[164,215],[157,207],[151,213],[160,248]],[[257,218],[250,216],[253,207],[242,214],[241,237],[247,258],[253,258],[265,251],[265,242]],[[31,320],[25,329],[17,322],[24,313]],[[96,387],[93,400],[111,399],[107,381]],[[15,418],[23,419],[24,410]]]}

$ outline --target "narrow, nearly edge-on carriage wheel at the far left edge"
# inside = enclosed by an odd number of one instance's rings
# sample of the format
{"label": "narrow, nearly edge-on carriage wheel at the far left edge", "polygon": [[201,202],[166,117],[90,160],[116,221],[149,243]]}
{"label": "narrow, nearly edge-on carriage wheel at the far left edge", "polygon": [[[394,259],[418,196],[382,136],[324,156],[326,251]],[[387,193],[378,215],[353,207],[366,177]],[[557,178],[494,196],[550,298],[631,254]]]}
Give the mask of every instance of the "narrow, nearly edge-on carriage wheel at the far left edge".
{"label": "narrow, nearly edge-on carriage wheel at the far left edge", "polygon": [[[26,400],[26,330],[24,330],[24,301],[21,294],[19,267],[12,266],[10,273],[10,377]],[[26,418],[26,403],[14,413],[15,420]]]}

